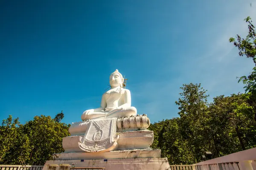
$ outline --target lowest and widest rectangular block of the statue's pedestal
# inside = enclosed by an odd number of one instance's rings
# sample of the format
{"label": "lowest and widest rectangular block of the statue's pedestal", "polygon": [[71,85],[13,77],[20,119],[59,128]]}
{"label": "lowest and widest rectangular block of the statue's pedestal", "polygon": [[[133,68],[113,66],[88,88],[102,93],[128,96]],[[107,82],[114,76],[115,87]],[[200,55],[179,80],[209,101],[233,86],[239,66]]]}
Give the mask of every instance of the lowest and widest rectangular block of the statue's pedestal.
{"label": "lowest and widest rectangular block of the statue's pedestal", "polygon": [[56,166],[60,170],[60,165],[82,168],[99,168],[105,170],[171,170],[167,158],[137,158],[137,159],[91,159],[91,160],[54,160],[46,161],[43,170],[48,170],[48,166]]}

